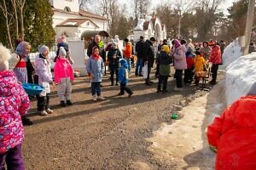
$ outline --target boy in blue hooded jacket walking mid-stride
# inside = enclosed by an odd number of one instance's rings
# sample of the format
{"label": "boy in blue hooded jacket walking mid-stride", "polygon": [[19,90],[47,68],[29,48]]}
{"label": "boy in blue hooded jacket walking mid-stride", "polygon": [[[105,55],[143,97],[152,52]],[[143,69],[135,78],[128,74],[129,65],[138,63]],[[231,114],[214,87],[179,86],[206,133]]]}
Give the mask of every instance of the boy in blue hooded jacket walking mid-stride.
{"label": "boy in blue hooded jacket walking mid-stride", "polygon": [[129,79],[128,79],[128,75],[129,75],[128,63],[125,59],[120,59],[120,65],[121,65],[121,67],[119,68],[119,77],[118,77],[118,80],[120,83],[119,95],[124,95],[125,91],[126,91],[126,93],[129,94],[128,96],[131,97],[133,92],[131,91],[130,88],[126,87],[128,81],[129,81]]}

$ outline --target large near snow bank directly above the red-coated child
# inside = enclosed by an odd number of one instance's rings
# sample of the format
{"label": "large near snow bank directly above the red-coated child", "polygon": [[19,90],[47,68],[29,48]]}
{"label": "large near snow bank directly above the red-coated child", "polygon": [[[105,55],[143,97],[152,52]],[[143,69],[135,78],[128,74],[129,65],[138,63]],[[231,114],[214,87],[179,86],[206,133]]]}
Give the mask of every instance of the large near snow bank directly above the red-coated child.
{"label": "large near snow bank directly above the red-coated child", "polygon": [[227,105],[246,95],[256,82],[256,53],[239,57],[226,69],[225,96]]}

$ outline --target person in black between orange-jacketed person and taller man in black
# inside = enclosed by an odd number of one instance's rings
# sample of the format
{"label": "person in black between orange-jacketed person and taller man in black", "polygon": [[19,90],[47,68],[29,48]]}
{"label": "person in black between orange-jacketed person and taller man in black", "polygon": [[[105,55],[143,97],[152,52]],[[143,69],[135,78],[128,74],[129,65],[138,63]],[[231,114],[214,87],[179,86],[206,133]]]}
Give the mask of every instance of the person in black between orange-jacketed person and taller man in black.
{"label": "person in black between orange-jacketed person and taller man in black", "polygon": [[140,37],[140,41],[136,43],[135,50],[137,53],[137,63],[136,63],[136,69],[135,69],[135,76],[143,76],[143,45],[144,45],[144,37]]}

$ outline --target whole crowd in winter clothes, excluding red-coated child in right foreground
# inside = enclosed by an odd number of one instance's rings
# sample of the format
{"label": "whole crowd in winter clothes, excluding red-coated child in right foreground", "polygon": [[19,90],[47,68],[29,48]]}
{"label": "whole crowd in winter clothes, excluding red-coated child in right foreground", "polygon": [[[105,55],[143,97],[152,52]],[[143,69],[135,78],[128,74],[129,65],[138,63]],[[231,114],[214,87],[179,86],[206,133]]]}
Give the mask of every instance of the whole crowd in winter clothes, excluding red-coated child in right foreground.
{"label": "whole crowd in winter clothes, excluding red-coated child in right foreground", "polygon": [[[107,65],[111,86],[115,82],[115,85],[120,87],[119,95],[124,95],[126,92],[131,97],[133,91],[128,87],[128,82],[133,54],[137,55],[135,76],[144,77],[146,86],[151,86],[153,83],[150,74],[154,64],[156,65],[154,76],[158,77],[157,93],[168,92],[167,82],[168,77],[171,77],[172,65],[175,69],[176,87],[173,89],[175,91],[182,91],[184,83],[195,81],[197,86],[201,78],[198,73],[207,71],[209,67],[212,74],[210,83],[214,85],[217,82],[218,65],[222,63],[224,51],[223,41],[193,43],[191,39],[187,41],[173,39],[172,42],[163,40],[156,50],[157,41],[154,37],[144,41],[144,37],[141,36],[135,45],[128,39],[124,42],[122,51],[115,41],[108,43],[107,48],[104,48],[99,35],[96,35],[94,41],[90,43],[87,49],[89,59],[86,70],[91,80],[91,95],[94,101],[105,99],[102,96],[101,82]],[[4,113],[1,115],[0,128],[0,169],[4,167],[5,162],[8,168],[24,169],[21,159],[21,143],[24,139],[22,124],[32,125],[32,122],[26,118],[26,112],[30,107],[29,97],[32,96],[26,94],[21,86],[22,83],[30,82],[44,87],[44,90],[36,96],[41,116],[54,112],[49,106],[50,84],[53,82],[58,86],[61,107],[73,105],[71,95],[74,61],[65,37],[58,38],[57,47],[53,78],[47,46],[42,45],[38,48],[38,56],[32,64],[28,56],[31,49],[29,42],[18,42],[16,55],[13,56],[10,55],[9,49],[0,45],[0,111],[1,114]]]}

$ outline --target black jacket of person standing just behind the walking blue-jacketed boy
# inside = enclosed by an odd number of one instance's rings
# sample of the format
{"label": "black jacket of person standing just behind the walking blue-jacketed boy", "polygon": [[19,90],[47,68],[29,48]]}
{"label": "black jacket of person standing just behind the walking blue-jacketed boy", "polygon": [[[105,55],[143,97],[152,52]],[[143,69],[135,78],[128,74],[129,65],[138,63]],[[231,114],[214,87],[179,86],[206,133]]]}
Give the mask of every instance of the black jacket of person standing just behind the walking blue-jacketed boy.
{"label": "black jacket of person standing just behind the walking blue-jacketed boy", "polygon": [[[113,59],[113,55],[116,55],[116,58]],[[122,58],[119,48],[110,48],[108,51],[108,65],[113,69],[119,68],[119,59]]]}

